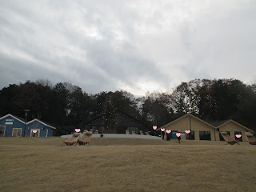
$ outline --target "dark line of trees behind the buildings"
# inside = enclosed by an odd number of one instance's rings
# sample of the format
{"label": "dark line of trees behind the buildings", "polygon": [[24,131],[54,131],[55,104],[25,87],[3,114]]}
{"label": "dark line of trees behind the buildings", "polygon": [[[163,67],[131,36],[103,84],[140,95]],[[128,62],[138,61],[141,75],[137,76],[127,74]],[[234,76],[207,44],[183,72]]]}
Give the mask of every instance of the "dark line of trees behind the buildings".
{"label": "dark line of trees behind the buildings", "polygon": [[25,118],[24,110],[30,110],[27,120],[49,122],[57,127],[55,135],[70,134],[91,118],[115,109],[138,118],[149,128],[191,113],[210,123],[232,118],[255,131],[256,85],[236,79],[195,79],[182,82],[171,93],[146,93],[141,98],[122,90],[88,94],[69,82],[53,86],[48,80],[27,81],[0,90],[1,116]]}

